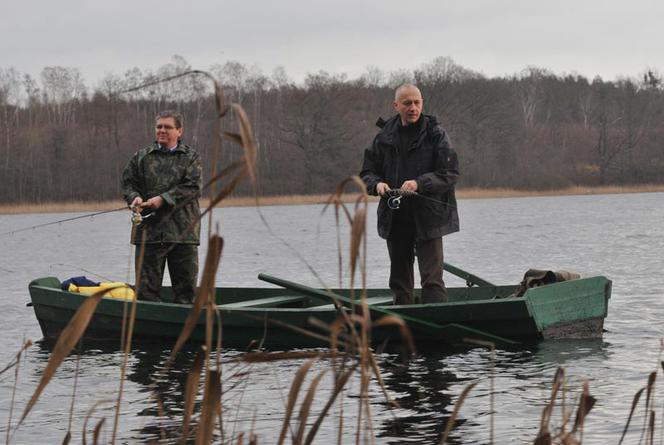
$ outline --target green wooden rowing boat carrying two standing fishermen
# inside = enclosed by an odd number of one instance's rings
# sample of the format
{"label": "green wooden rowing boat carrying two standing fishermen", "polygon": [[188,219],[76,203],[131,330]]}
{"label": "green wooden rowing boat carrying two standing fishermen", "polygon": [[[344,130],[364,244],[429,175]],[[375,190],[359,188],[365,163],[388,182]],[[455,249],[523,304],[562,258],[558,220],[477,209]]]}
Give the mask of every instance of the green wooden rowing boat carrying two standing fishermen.
{"label": "green wooden rowing boat carrying two standing fishermen", "polygon": [[[510,345],[602,336],[611,295],[611,281],[603,276],[534,287],[523,296],[514,297],[511,295],[517,286],[495,286],[453,266],[445,268],[468,284],[449,288],[448,302],[395,306],[389,289],[369,289],[367,302],[372,319],[398,315],[410,327],[417,345],[433,347],[469,340]],[[325,347],[329,345],[326,326],[340,316],[339,311],[350,312],[356,307],[348,289],[312,289],[264,274],[259,279],[280,288],[216,289],[225,347]],[[46,339],[57,338],[87,298],[61,290],[60,280],[54,277],[33,280],[29,291],[29,305],[34,308]],[[336,297],[336,305],[331,296]],[[165,302],[137,302],[134,341],[174,342],[180,334],[191,306],[169,303],[170,288],[164,288],[162,297]],[[84,338],[119,342],[124,311],[125,301],[102,298]],[[204,338],[203,313],[190,341],[202,342]],[[400,339],[394,325],[372,330],[375,344]]]}

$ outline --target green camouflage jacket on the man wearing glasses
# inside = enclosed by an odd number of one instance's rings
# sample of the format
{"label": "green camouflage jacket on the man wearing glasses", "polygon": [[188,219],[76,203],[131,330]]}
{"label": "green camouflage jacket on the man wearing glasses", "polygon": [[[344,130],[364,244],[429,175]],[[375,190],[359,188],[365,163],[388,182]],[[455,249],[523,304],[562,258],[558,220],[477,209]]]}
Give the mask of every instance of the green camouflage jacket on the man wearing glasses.
{"label": "green camouflage jacket on the man wearing glasses", "polygon": [[[164,205],[132,230],[132,244],[145,242],[200,244],[201,159],[178,142],[172,152],[154,142],[138,150],[122,173],[122,195],[128,204],[140,196],[146,201],[161,196]],[[193,226],[192,223],[196,221]]]}

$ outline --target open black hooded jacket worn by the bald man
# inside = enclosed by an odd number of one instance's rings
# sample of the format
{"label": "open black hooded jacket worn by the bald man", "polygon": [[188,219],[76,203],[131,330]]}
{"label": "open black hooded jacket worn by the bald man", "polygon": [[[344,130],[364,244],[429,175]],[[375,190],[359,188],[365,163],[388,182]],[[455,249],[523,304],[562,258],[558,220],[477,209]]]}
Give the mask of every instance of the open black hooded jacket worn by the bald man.
{"label": "open black hooded jacket worn by the bald man", "polygon": [[[416,172],[419,194],[429,197],[407,197],[412,200],[415,237],[417,241],[439,238],[459,230],[454,186],[459,177],[459,161],[452,149],[447,133],[435,117],[423,115],[424,125],[419,136],[408,149],[408,170]],[[399,115],[386,122],[378,121],[382,130],[373,144],[364,152],[360,177],[371,195],[376,195],[376,185],[387,183],[390,188],[399,188],[397,178],[405,166],[399,165]],[[378,234],[387,239],[392,230],[393,211],[383,198],[378,204]]]}

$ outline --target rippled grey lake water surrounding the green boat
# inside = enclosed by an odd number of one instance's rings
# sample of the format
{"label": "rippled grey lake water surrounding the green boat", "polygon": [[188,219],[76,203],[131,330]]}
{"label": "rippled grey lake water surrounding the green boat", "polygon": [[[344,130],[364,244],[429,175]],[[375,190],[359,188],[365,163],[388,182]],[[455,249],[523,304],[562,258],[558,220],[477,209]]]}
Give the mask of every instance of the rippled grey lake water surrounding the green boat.
{"label": "rippled grey lake water surrounding the green boat", "polygon": [[[317,205],[264,207],[269,229],[255,208],[215,210],[214,226],[225,239],[218,285],[269,286],[256,279],[259,272],[267,272],[319,286],[306,262],[326,284],[336,286],[335,220],[332,211],[322,214],[322,210]],[[381,354],[379,365],[388,392],[400,408],[388,409],[380,388],[372,385],[375,443],[437,443],[454,402],[472,382],[478,384],[461,409],[451,442],[489,443],[493,423],[495,443],[532,443],[554,373],[560,366],[566,369],[570,403],[584,381],[597,398],[586,421],[583,443],[617,443],[634,394],[645,386],[648,374],[658,369],[661,360],[664,194],[462,200],[459,212],[461,232],[445,238],[448,262],[497,284],[516,284],[529,268],[607,276],[613,280],[607,332],[600,340],[547,341],[527,349],[497,350],[494,360],[481,348],[427,352],[405,364],[396,355]],[[0,215],[0,233],[76,215]],[[368,286],[385,287],[389,262],[384,242],[375,230],[375,205],[370,206],[369,215]],[[12,361],[25,340],[36,342],[20,363],[12,425],[34,391],[50,353],[49,346],[38,341],[39,326],[32,309],[26,307],[28,282],[40,276],[64,279],[76,275],[133,281],[129,230],[129,213],[116,212],[0,237],[0,287],[4,298],[0,324],[5,329],[0,342],[0,369]],[[342,232],[348,232],[347,225],[342,226]],[[204,258],[205,245],[200,252]],[[463,285],[448,274],[445,279],[450,286]],[[344,285],[348,283],[347,273],[342,280]],[[181,424],[182,387],[193,352],[185,351],[175,370],[154,383],[151,377],[168,352],[132,351],[118,443],[158,439],[162,429],[168,432]],[[228,351],[222,359],[237,354]],[[24,424],[12,432],[11,443],[60,443],[69,429],[74,384],[73,442],[82,442],[81,431],[90,410],[88,431],[99,419],[106,418],[101,437],[109,442],[114,413],[111,401],[117,398],[121,361],[117,350],[91,349],[90,345],[78,360],[76,355],[69,357]],[[288,389],[301,364],[293,360],[269,366],[225,365],[225,378],[243,372],[241,378],[235,377],[234,386],[225,387],[227,441],[237,439],[242,432],[245,440],[254,432],[259,443],[276,441]],[[311,375],[325,368],[322,361]],[[329,376],[321,382],[318,405],[326,399],[328,380]],[[164,403],[163,417],[151,399],[154,385]],[[14,369],[0,374],[2,440],[13,387]],[[344,399],[343,443],[355,442],[358,388],[358,381],[352,381]],[[659,418],[661,403],[656,406]],[[642,413],[641,405],[625,443],[638,443]],[[315,443],[336,442],[339,416],[339,410],[333,410]],[[558,425],[559,419],[559,413],[554,414],[553,424]]]}

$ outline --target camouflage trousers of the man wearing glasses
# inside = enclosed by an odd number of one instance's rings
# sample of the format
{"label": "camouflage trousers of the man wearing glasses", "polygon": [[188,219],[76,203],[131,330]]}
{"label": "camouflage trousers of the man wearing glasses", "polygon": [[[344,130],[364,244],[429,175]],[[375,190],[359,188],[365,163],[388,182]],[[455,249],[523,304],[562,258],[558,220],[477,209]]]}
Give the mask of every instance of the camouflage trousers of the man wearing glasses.
{"label": "camouflage trousers of the man wearing glasses", "polygon": [[138,270],[141,246],[136,246],[136,290],[139,300],[162,301],[161,283],[168,263],[173,301],[191,303],[196,295],[198,278],[198,246],[195,244],[145,244],[143,267]]}

